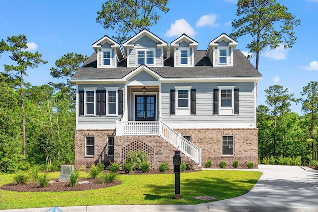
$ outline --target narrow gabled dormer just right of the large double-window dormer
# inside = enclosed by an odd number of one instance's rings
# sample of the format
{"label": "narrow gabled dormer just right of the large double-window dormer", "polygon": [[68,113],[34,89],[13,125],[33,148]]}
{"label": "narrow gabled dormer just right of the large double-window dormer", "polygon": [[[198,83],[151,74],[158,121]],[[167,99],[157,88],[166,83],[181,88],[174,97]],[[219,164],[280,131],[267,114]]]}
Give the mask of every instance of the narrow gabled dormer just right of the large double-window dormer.
{"label": "narrow gabled dormer just right of the large double-window dormer", "polygon": [[198,42],[187,36],[181,35],[170,44],[171,58],[174,58],[175,67],[194,66],[194,52]]}

